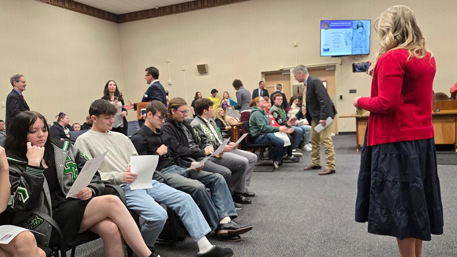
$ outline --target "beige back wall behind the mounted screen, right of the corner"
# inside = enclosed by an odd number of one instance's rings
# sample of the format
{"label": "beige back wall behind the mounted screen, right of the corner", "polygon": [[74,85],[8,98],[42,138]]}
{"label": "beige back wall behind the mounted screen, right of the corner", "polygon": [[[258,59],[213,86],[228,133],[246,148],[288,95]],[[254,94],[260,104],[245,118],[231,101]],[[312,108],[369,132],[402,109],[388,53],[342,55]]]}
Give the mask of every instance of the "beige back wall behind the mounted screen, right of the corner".
{"label": "beige back wall behind the mounted screen, right of the corner", "polygon": [[[190,102],[195,91],[209,96],[217,88],[219,95],[235,91],[232,81],[238,78],[252,91],[262,78],[261,72],[278,70],[280,66],[295,66],[294,41],[298,41],[298,62],[320,64],[336,62],[338,58],[319,56],[319,21],[321,19],[371,19],[398,1],[310,1],[251,0],[172,16],[133,21],[119,25],[122,43],[122,65],[130,99],[140,100],[147,85],[143,70],[156,66],[160,80],[170,96],[184,96]],[[430,4],[425,0],[405,0],[415,11],[419,25],[428,39],[437,62],[435,91],[448,92],[457,80],[457,4],[453,0]],[[377,35],[372,30],[369,56],[342,57],[337,67],[337,102],[340,114],[355,112],[352,99],[368,96],[371,77],[353,74],[351,64],[374,60]],[[167,59],[170,60],[170,74]],[[197,64],[208,64],[209,72],[199,75]],[[182,67],[185,68],[185,79]],[[173,84],[166,85],[169,75]],[[339,75],[341,80],[339,80]],[[293,77],[292,77],[293,79]],[[340,84],[341,81],[341,84]],[[294,81],[292,81],[294,84]],[[184,90],[186,85],[186,90]],[[340,90],[340,85],[342,90]],[[356,94],[349,94],[356,89]],[[343,100],[339,100],[339,94]],[[132,117],[131,117],[132,118]],[[339,131],[355,131],[355,119],[341,119]]]}

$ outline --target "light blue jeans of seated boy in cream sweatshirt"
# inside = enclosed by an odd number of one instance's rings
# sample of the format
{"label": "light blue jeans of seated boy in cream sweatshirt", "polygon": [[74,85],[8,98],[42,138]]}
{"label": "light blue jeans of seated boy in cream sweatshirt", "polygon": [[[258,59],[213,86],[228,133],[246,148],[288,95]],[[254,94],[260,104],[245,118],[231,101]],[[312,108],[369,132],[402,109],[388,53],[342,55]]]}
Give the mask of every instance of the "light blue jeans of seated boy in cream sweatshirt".
{"label": "light blue jeans of seated boy in cream sweatshirt", "polygon": [[167,208],[178,214],[194,241],[198,241],[211,231],[205,217],[189,194],[164,183],[151,181],[152,187],[146,189],[132,190],[129,184],[122,185],[128,209],[133,210],[145,220],[141,226],[141,235],[146,245],[154,246],[155,240],[167,220],[167,212],[155,201],[165,204]]}

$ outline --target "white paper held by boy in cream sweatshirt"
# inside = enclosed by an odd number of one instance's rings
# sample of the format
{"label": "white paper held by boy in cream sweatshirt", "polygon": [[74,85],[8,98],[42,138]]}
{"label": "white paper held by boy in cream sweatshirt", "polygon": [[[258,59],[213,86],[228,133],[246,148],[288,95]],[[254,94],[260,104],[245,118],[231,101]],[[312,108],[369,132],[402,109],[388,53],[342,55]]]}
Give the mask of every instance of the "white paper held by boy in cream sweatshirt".
{"label": "white paper held by boy in cream sweatshirt", "polygon": [[144,189],[152,187],[152,176],[159,163],[159,155],[138,155],[130,157],[130,171],[138,174],[135,181],[130,183],[130,188]]}

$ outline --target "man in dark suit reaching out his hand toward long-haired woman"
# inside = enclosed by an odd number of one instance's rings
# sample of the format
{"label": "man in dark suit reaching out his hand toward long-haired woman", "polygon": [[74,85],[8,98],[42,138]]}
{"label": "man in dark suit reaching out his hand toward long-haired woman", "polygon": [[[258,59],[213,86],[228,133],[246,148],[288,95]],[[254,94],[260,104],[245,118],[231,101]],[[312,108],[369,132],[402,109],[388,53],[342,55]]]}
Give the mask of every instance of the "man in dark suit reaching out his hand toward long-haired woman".
{"label": "man in dark suit reaching out his hand toward long-haired woman", "polygon": [[[159,82],[159,70],[155,67],[149,67],[144,70],[146,74],[144,74],[144,79],[146,83],[149,84],[148,90],[144,93],[143,99],[141,102],[151,102],[152,100],[157,100],[163,102],[165,106],[167,106],[167,96],[165,93],[165,89]],[[130,110],[137,110],[137,104],[133,103],[132,101],[128,100],[128,104],[125,104],[123,107],[124,109]],[[141,126],[144,124],[144,120],[138,120],[138,123]]]}

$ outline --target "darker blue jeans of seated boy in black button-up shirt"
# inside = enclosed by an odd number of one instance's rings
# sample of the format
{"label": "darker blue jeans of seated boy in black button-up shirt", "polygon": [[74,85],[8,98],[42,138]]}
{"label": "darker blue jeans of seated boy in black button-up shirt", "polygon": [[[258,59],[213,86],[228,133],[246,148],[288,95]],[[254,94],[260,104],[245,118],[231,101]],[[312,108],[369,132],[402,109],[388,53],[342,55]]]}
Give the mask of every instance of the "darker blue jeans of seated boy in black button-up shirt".
{"label": "darker blue jeans of seated boy in black button-up shirt", "polygon": [[[183,167],[172,165],[160,170],[160,172],[167,179],[170,187],[191,195],[202,210],[211,229],[216,229],[219,220],[224,217],[238,217],[232,195],[221,174],[185,170]],[[154,174],[153,178],[163,181],[163,178],[157,174]],[[206,191],[207,187],[211,190],[211,196]]]}

